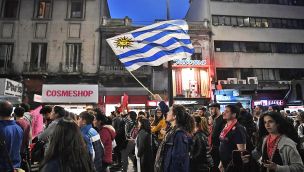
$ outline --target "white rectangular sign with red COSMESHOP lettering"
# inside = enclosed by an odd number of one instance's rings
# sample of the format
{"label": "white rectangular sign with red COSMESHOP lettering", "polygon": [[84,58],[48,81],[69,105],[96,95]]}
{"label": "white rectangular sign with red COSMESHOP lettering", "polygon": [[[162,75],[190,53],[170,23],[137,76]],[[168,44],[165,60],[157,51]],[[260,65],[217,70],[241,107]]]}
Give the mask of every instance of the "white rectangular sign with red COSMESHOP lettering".
{"label": "white rectangular sign with red COSMESHOP lettering", "polygon": [[42,86],[44,103],[97,103],[98,85],[57,85]]}

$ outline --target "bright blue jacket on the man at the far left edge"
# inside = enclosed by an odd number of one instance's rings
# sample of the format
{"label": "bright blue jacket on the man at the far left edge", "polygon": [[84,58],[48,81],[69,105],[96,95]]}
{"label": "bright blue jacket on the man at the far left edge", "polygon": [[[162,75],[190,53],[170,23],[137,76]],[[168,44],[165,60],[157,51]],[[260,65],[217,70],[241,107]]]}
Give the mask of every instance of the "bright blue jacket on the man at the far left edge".
{"label": "bright blue jacket on the man at the far left edge", "polygon": [[[0,120],[0,137],[4,137],[6,149],[9,153],[14,168],[21,165],[20,148],[23,138],[22,128],[11,120]],[[0,171],[9,169],[8,162],[5,158],[3,149],[0,149]]]}

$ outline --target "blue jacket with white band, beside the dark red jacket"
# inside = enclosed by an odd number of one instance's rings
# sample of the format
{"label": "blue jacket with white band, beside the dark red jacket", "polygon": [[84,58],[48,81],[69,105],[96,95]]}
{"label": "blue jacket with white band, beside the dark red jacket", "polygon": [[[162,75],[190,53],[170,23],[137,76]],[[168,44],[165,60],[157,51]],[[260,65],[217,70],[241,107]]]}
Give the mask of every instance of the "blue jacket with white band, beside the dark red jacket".
{"label": "blue jacket with white band, beside the dark red jacket", "polygon": [[91,124],[80,128],[84,141],[87,145],[93,161],[96,171],[102,170],[102,158],[104,154],[104,147],[100,140],[99,133],[92,127]]}

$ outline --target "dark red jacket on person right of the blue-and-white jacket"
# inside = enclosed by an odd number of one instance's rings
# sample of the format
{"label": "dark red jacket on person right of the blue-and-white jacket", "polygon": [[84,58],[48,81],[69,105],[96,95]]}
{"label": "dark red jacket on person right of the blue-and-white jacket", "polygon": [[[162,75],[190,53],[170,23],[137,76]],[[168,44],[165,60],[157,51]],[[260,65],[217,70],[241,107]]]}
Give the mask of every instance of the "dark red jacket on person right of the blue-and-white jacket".
{"label": "dark red jacket on person right of the blue-and-white jacket", "polygon": [[116,133],[115,129],[110,125],[104,125],[101,127],[100,139],[104,146],[104,155],[102,161],[111,164],[112,163],[112,141],[114,140]]}

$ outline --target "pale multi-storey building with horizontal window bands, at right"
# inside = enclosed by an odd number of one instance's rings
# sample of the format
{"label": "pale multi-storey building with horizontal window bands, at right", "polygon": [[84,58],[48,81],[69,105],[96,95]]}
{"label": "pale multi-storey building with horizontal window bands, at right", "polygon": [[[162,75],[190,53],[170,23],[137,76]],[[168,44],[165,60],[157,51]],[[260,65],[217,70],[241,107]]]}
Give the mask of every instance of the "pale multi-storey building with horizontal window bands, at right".
{"label": "pale multi-storey building with horizontal window bands, at right", "polygon": [[297,81],[304,79],[303,5],[298,0],[190,1],[186,19],[208,22],[212,31],[220,89],[237,89],[252,104],[303,100],[304,85]]}

